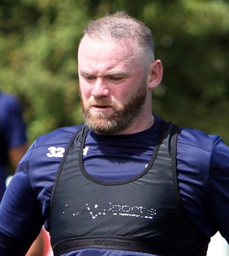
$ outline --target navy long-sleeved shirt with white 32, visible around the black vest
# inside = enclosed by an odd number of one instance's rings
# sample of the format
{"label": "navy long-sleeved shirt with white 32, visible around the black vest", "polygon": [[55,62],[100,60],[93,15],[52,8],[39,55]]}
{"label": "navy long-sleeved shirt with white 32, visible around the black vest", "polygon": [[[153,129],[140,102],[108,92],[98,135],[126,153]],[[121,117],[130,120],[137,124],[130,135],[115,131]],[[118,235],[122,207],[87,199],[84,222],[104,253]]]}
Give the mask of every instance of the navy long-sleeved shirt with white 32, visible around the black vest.
{"label": "navy long-sleeved shirt with white 32, visible around the black vest", "polygon": [[[105,181],[138,175],[152,155],[161,122],[156,117],[152,127],[130,135],[89,131],[83,150],[85,169]],[[49,230],[53,182],[65,148],[79,127],[64,127],[39,137],[20,161],[0,205],[0,255],[13,239],[32,241],[43,223]],[[219,230],[229,242],[229,147],[218,135],[180,128],[177,172],[180,196],[191,221],[209,237]],[[23,255],[19,249],[17,253]],[[64,254],[72,255],[144,254],[93,248]]]}

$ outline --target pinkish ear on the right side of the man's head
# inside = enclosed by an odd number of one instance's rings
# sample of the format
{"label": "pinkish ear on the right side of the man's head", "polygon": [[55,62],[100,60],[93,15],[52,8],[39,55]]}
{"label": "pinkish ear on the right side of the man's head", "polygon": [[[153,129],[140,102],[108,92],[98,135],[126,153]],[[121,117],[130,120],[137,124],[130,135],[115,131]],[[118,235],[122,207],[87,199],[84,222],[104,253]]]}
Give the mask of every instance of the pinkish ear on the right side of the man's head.
{"label": "pinkish ear on the right side of the man's head", "polygon": [[156,88],[163,77],[163,66],[161,60],[154,60],[148,68],[147,84],[149,89]]}

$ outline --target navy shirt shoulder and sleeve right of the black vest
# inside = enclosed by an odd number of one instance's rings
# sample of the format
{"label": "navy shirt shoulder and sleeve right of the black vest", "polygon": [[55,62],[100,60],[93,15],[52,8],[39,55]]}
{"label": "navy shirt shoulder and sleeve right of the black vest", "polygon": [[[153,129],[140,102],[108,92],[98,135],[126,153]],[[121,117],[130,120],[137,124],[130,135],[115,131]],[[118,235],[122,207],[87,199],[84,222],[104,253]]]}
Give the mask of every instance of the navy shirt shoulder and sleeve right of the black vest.
{"label": "navy shirt shoulder and sleeve right of the black vest", "polygon": [[182,129],[177,145],[178,186],[184,209],[207,236],[229,242],[229,147],[218,135]]}

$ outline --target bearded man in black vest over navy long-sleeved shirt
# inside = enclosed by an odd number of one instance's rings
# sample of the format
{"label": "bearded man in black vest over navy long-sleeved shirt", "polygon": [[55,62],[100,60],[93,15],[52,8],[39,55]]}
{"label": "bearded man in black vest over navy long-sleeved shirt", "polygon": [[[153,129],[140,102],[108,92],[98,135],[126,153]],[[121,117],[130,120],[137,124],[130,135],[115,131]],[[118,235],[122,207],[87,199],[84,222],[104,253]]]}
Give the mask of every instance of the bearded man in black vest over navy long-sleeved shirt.
{"label": "bearded man in black vest over navy long-sleeved shirt", "polygon": [[229,148],[152,114],[163,68],[150,30],[123,12],[91,22],[78,69],[85,125],[39,137],[20,161],[0,255],[24,255],[43,223],[64,256],[206,255],[217,230],[229,241]]}

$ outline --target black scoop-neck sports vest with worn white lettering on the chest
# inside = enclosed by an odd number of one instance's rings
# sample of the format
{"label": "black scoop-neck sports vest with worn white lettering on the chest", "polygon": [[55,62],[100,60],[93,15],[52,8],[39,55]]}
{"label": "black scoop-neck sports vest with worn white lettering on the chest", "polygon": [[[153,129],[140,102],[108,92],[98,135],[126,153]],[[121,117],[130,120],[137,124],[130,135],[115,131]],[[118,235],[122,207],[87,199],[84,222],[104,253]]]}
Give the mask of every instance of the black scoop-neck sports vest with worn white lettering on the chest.
{"label": "black scoop-neck sports vest with worn white lettering on the chest", "polygon": [[165,125],[146,169],[125,182],[98,181],[84,169],[87,131],[84,126],[73,137],[54,182],[54,255],[89,247],[206,255],[209,238],[190,222],[178,193],[177,127]]}

